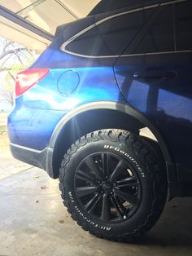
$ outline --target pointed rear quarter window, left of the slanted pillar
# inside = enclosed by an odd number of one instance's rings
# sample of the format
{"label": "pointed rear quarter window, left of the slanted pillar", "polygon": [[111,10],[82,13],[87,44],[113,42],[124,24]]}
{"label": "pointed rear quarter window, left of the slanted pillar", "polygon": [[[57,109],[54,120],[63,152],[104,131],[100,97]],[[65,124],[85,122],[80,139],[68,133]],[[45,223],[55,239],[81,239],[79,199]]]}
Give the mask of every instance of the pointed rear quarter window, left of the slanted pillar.
{"label": "pointed rear quarter window, left of the slanted pillar", "polygon": [[153,10],[120,15],[89,29],[66,46],[81,55],[120,55]]}

